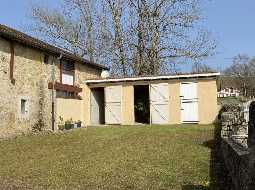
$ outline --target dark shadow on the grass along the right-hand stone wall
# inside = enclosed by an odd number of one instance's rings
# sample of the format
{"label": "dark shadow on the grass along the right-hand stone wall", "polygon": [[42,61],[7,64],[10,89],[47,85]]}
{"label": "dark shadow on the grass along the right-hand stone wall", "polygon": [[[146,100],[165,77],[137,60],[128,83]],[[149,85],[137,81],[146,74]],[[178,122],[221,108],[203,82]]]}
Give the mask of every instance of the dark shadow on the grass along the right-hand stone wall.
{"label": "dark shadow on the grass along the right-hand stone wall", "polygon": [[229,190],[231,178],[226,169],[223,154],[221,152],[221,127],[215,125],[214,138],[206,141],[202,146],[211,149],[210,154],[210,183],[209,187],[200,185],[183,185],[182,190]]}

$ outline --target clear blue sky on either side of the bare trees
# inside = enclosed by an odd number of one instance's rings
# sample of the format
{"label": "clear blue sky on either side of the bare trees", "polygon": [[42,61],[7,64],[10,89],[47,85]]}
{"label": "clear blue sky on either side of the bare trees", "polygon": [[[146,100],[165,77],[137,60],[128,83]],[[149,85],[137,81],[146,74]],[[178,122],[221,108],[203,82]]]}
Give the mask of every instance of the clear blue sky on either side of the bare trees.
{"label": "clear blue sky on either side of the bare trees", "polygon": [[[31,4],[57,6],[59,0],[1,0],[0,23],[24,31],[29,23]],[[223,70],[237,54],[255,56],[255,1],[204,0],[203,26],[217,42],[215,55],[204,63]],[[190,67],[185,67],[190,69]]]}

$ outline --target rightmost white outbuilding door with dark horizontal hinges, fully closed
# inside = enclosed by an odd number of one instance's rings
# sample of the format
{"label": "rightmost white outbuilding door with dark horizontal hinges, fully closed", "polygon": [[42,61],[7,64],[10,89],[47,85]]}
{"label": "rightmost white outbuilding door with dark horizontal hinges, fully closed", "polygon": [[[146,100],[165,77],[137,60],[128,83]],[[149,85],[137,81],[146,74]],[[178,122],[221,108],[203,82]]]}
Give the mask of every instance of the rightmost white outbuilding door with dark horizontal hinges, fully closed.
{"label": "rightmost white outbuilding door with dark horizontal hinges, fully closed", "polygon": [[181,119],[183,123],[198,122],[197,83],[181,83]]}

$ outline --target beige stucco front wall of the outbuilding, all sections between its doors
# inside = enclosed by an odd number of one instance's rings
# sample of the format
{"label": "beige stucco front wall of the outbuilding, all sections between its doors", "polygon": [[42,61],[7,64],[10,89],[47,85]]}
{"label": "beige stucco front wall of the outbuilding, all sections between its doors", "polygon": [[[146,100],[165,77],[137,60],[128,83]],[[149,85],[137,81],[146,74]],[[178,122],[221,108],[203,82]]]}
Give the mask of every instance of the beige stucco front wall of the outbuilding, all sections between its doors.
{"label": "beige stucco front wall of the outbuilding, all sections between its doors", "polygon": [[[181,98],[180,85],[181,82],[190,82],[194,80],[169,80],[169,124],[180,124],[181,121]],[[200,124],[213,123],[218,114],[217,106],[217,86],[215,79],[196,79],[198,82],[198,115]],[[153,81],[153,83],[160,83],[162,81]],[[139,81],[128,83],[99,83],[92,85],[93,87],[105,87],[112,85],[122,85],[122,124],[134,124],[134,88],[133,85],[149,85],[151,82]],[[88,88],[88,87],[86,87]],[[87,89],[89,91],[89,88]],[[90,94],[90,93],[89,93]],[[89,97],[85,95],[85,99]],[[89,102],[86,103],[86,110],[89,110]],[[90,113],[87,111],[87,113]],[[86,119],[88,125],[89,118]]]}

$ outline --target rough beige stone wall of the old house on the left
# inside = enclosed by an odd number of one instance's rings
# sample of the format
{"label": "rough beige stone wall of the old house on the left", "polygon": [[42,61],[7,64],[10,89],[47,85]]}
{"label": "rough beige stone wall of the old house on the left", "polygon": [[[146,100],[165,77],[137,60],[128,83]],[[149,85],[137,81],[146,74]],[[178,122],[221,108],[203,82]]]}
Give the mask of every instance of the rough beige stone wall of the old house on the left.
{"label": "rough beige stone wall of the old house on the left", "polygon": [[[17,43],[14,55],[15,84],[12,84],[10,42],[0,38],[0,134],[7,129],[27,131],[40,126],[51,129],[52,91],[48,89],[48,83],[52,80],[53,60],[56,81],[60,81],[59,61],[50,56],[45,64],[43,52]],[[76,63],[75,84],[82,86],[83,80],[96,78],[100,73],[100,69]],[[21,114],[21,99],[27,100],[25,116]]]}

